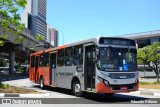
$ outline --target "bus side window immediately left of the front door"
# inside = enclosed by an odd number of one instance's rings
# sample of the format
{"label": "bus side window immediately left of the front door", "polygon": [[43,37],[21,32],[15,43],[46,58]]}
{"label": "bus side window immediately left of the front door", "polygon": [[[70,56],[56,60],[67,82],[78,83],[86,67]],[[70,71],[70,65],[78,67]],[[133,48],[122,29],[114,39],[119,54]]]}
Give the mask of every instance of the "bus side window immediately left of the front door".
{"label": "bus side window immediately left of the front door", "polygon": [[73,57],[74,65],[82,65],[83,64],[83,45],[74,47],[74,57]]}

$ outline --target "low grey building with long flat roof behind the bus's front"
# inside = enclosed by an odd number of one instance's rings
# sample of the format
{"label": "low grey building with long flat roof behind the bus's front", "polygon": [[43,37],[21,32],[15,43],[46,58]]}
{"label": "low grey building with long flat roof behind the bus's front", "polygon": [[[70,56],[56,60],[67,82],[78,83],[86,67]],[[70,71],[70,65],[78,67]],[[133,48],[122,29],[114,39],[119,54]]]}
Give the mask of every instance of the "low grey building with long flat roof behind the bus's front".
{"label": "low grey building with long flat roof behind the bus's front", "polygon": [[138,48],[143,48],[152,45],[154,42],[160,42],[160,30],[120,35],[119,37],[134,39],[138,44]]}

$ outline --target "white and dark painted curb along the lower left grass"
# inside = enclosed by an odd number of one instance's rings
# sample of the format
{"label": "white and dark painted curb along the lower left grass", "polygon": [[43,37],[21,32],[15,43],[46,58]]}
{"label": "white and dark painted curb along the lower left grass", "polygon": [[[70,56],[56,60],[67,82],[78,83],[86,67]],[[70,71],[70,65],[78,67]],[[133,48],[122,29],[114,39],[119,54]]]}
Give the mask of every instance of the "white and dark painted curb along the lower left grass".
{"label": "white and dark painted curb along the lower left grass", "polygon": [[31,98],[37,98],[37,97],[49,97],[50,93],[45,94],[7,94],[7,93],[1,93],[0,97],[31,97]]}

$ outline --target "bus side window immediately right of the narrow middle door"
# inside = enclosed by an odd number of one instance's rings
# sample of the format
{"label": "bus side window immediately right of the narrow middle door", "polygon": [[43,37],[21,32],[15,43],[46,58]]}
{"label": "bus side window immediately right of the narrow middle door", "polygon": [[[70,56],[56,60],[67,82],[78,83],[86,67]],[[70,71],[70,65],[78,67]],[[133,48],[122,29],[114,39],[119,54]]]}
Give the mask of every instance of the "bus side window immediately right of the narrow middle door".
{"label": "bus side window immediately right of the narrow middle door", "polygon": [[57,66],[64,65],[64,49],[58,51]]}

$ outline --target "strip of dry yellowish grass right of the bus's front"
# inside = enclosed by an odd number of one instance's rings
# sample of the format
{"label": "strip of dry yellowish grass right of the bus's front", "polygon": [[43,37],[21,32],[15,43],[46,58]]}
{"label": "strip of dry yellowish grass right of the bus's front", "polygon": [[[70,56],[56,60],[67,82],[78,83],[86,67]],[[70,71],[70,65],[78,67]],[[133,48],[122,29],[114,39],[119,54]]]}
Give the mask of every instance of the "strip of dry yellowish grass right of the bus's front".
{"label": "strip of dry yellowish grass right of the bus's front", "polygon": [[157,82],[140,82],[140,88],[148,88],[148,89],[160,89],[160,83]]}

